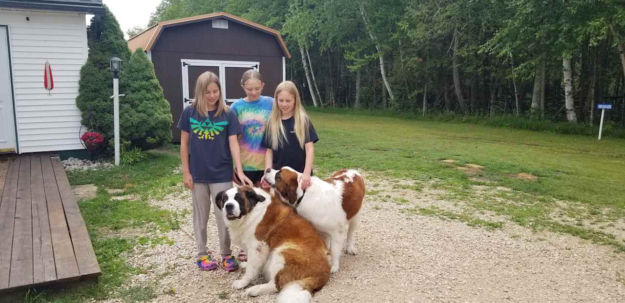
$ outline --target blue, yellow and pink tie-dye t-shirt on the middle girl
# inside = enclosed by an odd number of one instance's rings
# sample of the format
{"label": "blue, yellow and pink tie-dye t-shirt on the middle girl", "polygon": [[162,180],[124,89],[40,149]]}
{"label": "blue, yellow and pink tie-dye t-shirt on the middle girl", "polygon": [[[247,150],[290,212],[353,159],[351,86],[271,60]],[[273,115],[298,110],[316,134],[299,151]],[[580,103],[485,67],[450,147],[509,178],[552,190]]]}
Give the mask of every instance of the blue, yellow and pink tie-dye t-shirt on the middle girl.
{"label": "blue, yellow and pink tie-dye t-shirt on the middle girl", "polygon": [[266,96],[261,96],[253,102],[239,99],[231,105],[243,127],[239,147],[241,147],[241,163],[244,171],[265,169],[265,151],[267,149],[261,147],[261,142],[272,106],[273,98]]}

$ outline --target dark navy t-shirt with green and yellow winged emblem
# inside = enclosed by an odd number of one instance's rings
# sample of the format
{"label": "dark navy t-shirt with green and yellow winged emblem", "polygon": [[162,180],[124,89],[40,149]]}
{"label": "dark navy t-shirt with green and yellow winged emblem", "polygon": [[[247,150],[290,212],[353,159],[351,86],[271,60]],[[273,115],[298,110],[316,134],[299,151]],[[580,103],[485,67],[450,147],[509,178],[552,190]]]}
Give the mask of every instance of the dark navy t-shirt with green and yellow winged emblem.
{"label": "dark navy t-shirt with green and yellow winged emblem", "polygon": [[184,108],[178,128],[189,133],[189,170],[196,183],[232,181],[232,155],[228,137],[242,133],[233,110],[213,117],[216,110],[202,117],[192,106]]}

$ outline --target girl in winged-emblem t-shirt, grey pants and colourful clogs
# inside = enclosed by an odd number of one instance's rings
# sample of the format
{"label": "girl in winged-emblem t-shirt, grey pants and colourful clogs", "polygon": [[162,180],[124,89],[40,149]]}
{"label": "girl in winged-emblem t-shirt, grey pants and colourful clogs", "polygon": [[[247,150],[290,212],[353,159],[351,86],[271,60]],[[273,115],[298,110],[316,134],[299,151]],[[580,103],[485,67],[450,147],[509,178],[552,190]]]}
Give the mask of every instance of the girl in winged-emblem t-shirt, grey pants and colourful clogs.
{"label": "girl in winged-emblem t-shirt, grey pants and colourful clogs", "polygon": [[[232,161],[236,175],[251,185],[241,166],[237,135],[241,124],[226,107],[219,78],[212,72],[197,77],[195,101],[184,108],[178,122],[181,130],[180,156],[183,161],[184,186],[192,192],[193,229],[197,243],[197,267],[211,271],[218,263],[206,251],[206,224],[211,200],[219,191],[232,188]],[[214,202],[213,202],[214,203]],[[232,257],[230,237],[219,208],[214,207],[222,265],[226,271],[239,267]]]}

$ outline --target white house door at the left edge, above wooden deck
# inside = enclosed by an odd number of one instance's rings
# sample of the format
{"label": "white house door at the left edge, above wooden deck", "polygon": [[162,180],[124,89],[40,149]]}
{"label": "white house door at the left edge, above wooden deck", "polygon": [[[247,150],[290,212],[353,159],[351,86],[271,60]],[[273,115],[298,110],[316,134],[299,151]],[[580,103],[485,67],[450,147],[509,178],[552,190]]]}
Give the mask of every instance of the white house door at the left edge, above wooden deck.
{"label": "white house door at the left edge, above wooden deck", "polygon": [[0,153],[16,151],[15,148],[9,39],[7,27],[0,26]]}

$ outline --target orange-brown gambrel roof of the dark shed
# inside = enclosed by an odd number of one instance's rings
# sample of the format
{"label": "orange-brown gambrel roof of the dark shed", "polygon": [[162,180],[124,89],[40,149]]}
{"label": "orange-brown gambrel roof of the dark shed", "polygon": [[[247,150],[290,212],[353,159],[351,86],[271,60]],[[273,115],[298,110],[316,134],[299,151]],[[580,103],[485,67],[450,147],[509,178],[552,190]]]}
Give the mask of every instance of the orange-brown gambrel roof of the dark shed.
{"label": "orange-brown gambrel roof of the dark shed", "polygon": [[149,27],[145,31],[141,32],[141,34],[131,37],[128,41],[128,47],[133,51],[137,49],[137,47],[141,47],[147,52],[148,50],[151,50],[154,47],[154,44],[156,44],[156,41],[158,41],[164,28],[171,27],[171,26],[181,26],[181,25],[189,24],[193,22],[206,21],[209,19],[214,19],[216,17],[224,17],[225,19],[238,22],[244,26],[249,26],[254,29],[257,29],[258,31],[271,34],[272,36],[276,37],[278,44],[280,44],[282,48],[282,52],[284,53],[284,56],[289,59],[291,58],[289,49],[286,48],[286,44],[284,43],[284,40],[282,40],[282,36],[280,35],[279,31],[276,31],[275,29],[271,29],[266,26],[262,26],[261,24],[254,23],[252,21],[243,19],[241,17],[228,14],[227,12],[213,12],[212,14],[205,14],[205,15],[158,22],[157,24],[154,24],[153,26]]}

